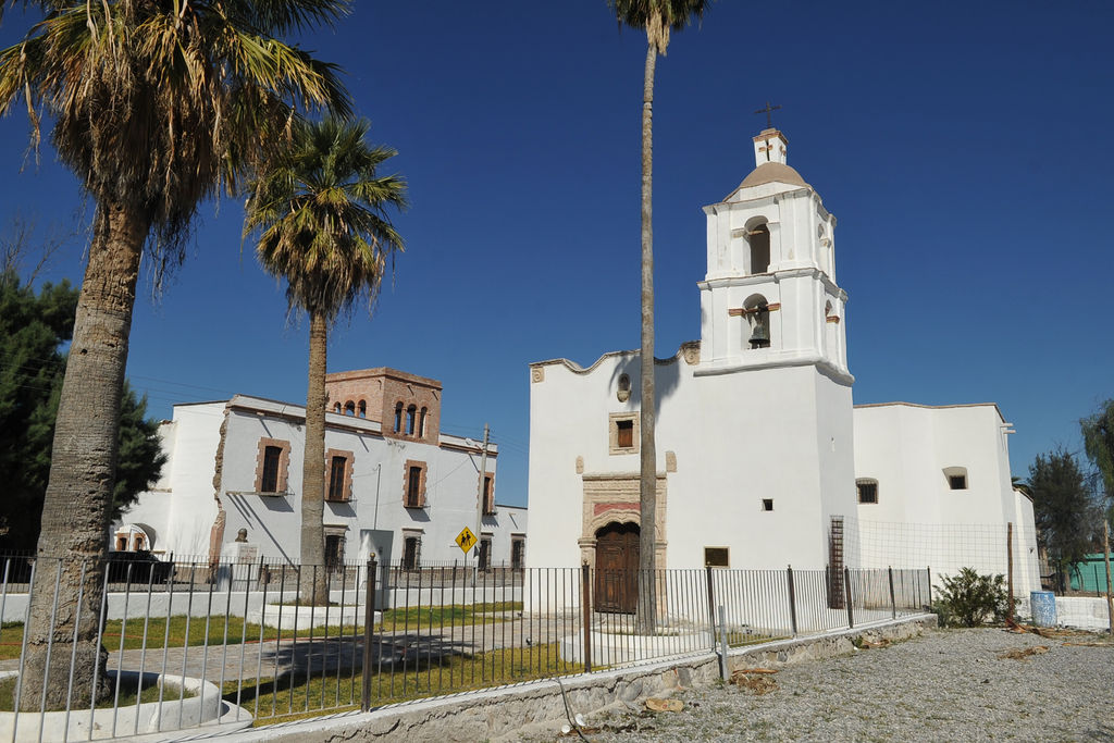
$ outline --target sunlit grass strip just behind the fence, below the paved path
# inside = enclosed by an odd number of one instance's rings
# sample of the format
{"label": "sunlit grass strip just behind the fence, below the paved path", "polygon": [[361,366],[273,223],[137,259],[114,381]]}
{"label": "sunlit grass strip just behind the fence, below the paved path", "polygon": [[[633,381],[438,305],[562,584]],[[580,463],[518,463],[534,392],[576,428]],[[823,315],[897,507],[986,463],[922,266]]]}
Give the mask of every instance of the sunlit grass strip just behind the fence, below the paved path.
{"label": "sunlit grass strip just behind the fence, below the paved path", "polygon": [[[382,674],[372,675],[372,706],[584,671],[580,664],[561,661],[555,643],[508,647],[476,655],[455,654],[431,661],[421,657],[420,653],[418,656],[408,664],[405,673],[401,667],[395,668],[393,678],[385,669]],[[336,671],[324,676],[315,675],[309,682],[301,674],[267,678],[260,685],[257,700],[255,680],[244,681],[242,685],[235,681],[227,682],[224,685],[224,700],[235,704],[238,693],[240,705],[253,713],[257,701],[256,724],[270,725],[280,721],[358,710],[361,691],[359,669],[354,678],[351,671],[342,669],[339,680]]]}

